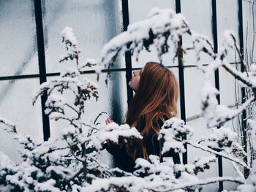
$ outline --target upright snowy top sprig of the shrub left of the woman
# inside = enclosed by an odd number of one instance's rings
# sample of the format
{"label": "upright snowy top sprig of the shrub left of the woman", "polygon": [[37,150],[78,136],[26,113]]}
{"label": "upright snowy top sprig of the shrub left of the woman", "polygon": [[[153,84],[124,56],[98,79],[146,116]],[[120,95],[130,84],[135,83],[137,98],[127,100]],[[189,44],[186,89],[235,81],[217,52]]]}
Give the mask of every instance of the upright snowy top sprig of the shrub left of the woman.
{"label": "upright snowy top sprig of the shrub left of the woman", "polygon": [[[75,35],[72,32],[72,28],[64,28],[61,32],[61,37],[65,43],[67,50],[68,47],[72,47],[72,55],[75,55],[75,69],[69,69],[64,72],[61,72],[60,77],[56,77],[53,80],[42,83],[40,85],[39,92],[35,97],[35,101],[38,96],[47,94],[48,100],[46,101],[47,110],[45,111],[51,118],[55,120],[68,120],[72,126],[80,127],[81,124],[77,120],[80,119],[80,116],[84,112],[85,102],[92,97],[96,100],[98,99],[97,85],[89,80],[88,78],[82,75],[80,71],[83,67],[90,67],[93,64],[90,64],[89,60],[86,64],[80,64],[79,54],[77,47],[77,40]],[[69,53],[66,58],[69,58]],[[73,59],[71,58],[71,60]],[[68,59],[66,59],[68,61]],[[61,60],[62,62],[64,60]],[[67,102],[64,99],[64,95],[67,93],[72,94],[72,102]],[[70,100],[70,99],[69,99]],[[35,102],[34,101],[34,102]],[[74,114],[74,117],[68,117],[68,112],[71,111]],[[77,124],[78,123],[78,124]]]}

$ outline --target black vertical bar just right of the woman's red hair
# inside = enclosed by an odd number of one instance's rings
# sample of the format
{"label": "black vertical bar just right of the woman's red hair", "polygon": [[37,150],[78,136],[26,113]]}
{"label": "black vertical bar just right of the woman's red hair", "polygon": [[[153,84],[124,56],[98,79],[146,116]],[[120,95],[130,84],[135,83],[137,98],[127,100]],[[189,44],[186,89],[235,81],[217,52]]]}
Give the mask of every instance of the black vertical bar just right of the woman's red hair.
{"label": "black vertical bar just right of the woman's red hair", "polygon": [[[176,0],[176,13],[181,12],[181,0]],[[178,42],[178,47],[182,45],[182,37]],[[178,53],[178,80],[180,91],[180,105],[181,105],[181,119],[186,123],[186,107],[185,107],[185,88],[184,88],[184,65],[183,65],[183,53],[182,49]],[[187,139],[184,137],[183,139]],[[183,164],[187,164],[187,144],[184,145],[186,152],[182,154]]]}

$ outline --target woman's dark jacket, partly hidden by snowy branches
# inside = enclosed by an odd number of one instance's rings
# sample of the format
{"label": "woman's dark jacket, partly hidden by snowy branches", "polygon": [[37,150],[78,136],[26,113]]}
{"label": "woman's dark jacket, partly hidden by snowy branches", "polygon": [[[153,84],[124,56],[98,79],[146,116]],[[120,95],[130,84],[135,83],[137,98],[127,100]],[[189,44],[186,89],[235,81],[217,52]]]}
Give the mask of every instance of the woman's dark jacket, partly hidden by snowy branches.
{"label": "woman's dark jacket, partly hidden by snowy branches", "polygon": [[[167,120],[167,118],[165,118],[165,120]],[[162,127],[163,125],[162,120],[159,120],[158,123],[159,123],[159,126]],[[154,123],[154,126],[157,127],[157,124]],[[163,140],[162,139],[158,140],[157,139],[158,136],[154,135],[153,130],[149,131],[146,137],[148,137],[146,142],[146,150],[148,152],[148,156],[149,155],[159,156],[161,153]],[[119,145],[115,145],[115,144],[112,144],[112,145],[106,144],[105,148],[116,159],[118,163],[118,167],[120,169],[123,169],[126,172],[135,171],[135,160],[130,155],[128,155],[126,147],[119,147]],[[174,164],[181,163],[178,153],[175,153],[173,150],[170,150],[168,153],[164,153],[163,155],[161,155],[161,159],[160,159],[161,161],[163,157],[173,157]],[[138,156],[138,158],[143,158],[143,156],[140,155]]]}

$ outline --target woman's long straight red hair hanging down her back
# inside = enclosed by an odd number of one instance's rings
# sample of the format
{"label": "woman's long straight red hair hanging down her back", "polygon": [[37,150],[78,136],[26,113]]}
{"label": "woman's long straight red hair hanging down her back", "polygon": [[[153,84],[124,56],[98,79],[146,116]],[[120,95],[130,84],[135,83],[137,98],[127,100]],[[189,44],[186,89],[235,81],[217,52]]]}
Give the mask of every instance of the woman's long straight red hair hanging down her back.
{"label": "woman's long straight red hair hanging down her back", "polygon": [[[156,62],[148,62],[140,76],[139,88],[127,111],[127,123],[136,127],[143,139],[127,145],[127,152],[133,158],[148,158],[147,134],[159,134],[159,120],[177,115],[178,83],[173,72]],[[154,126],[154,125],[157,125]]]}

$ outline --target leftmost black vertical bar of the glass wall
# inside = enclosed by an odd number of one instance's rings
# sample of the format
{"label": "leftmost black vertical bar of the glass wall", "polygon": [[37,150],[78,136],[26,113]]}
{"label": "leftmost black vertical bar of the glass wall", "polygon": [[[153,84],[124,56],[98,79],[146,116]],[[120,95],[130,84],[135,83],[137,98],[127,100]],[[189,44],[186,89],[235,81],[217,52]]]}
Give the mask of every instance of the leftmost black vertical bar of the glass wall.
{"label": "leftmost black vertical bar of the glass wall", "polygon": [[[46,69],[45,69],[45,45],[44,34],[42,26],[42,7],[41,0],[34,0],[35,20],[37,28],[37,51],[38,51],[38,64],[39,64],[39,80],[40,84],[46,82]],[[47,141],[50,137],[50,123],[49,117],[45,114],[45,101],[47,100],[47,94],[41,96],[42,106],[42,126],[44,141]]]}

